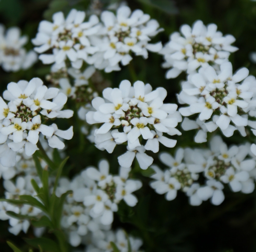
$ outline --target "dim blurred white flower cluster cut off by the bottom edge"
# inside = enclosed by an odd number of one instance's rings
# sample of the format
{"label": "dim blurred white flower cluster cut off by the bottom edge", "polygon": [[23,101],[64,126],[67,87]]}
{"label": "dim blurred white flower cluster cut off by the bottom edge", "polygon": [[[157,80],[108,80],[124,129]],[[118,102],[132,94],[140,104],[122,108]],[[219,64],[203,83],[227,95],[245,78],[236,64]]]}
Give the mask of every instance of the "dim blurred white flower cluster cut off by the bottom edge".
{"label": "dim blurred white flower cluster cut off by the bottom edge", "polygon": [[111,242],[115,243],[119,251],[128,252],[128,239],[131,244],[131,251],[141,252],[140,246],[143,244],[142,240],[127,235],[122,229],[118,229],[116,232],[112,230],[104,231],[97,236],[93,236],[91,239],[92,243],[87,245],[84,252],[111,252],[113,251]]}

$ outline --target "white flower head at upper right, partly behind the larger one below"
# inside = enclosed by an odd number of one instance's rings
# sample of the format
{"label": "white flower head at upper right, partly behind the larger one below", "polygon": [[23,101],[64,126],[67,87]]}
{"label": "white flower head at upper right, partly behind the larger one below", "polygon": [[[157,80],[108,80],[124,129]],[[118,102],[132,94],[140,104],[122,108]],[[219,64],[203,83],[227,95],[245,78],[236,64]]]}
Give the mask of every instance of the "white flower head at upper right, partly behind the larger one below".
{"label": "white flower head at upper right, partly behind the larger one below", "polygon": [[181,72],[195,72],[200,66],[218,65],[228,61],[230,52],[236,52],[237,47],[231,46],[235,38],[228,34],[223,36],[217,31],[215,24],[207,27],[201,20],[196,21],[192,28],[182,25],[180,32],[174,32],[170,41],[163,47],[160,54],[164,55],[166,78],[176,78]]}

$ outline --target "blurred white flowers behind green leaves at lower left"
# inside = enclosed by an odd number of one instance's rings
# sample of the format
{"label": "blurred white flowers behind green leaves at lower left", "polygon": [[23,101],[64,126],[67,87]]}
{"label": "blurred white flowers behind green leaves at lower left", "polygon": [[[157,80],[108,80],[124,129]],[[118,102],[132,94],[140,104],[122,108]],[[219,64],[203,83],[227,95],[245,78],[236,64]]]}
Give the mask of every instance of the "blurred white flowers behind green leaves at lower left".
{"label": "blurred white flowers behind green leaves at lower left", "polygon": [[[47,141],[41,137],[40,139],[47,155],[52,158],[52,149],[49,148]],[[40,160],[41,166],[44,168],[47,164]],[[20,195],[31,195],[36,197],[31,180],[34,179],[38,186],[42,186],[35,168],[35,162],[32,157],[28,157],[21,149],[16,156],[16,164],[13,167],[5,167],[0,164],[0,178],[3,178],[4,195],[7,200],[19,200]],[[49,183],[52,186],[51,182]],[[38,199],[40,200],[40,199]],[[9,220],[9,232],[18,235],[21,231],[27,232],[30,226],[29,220],[19,220],[6,214],[7,211],[15,212],[16,214],[26,215],[29,217],[41,218],[44,213],[41,209],[26,204],[13,205],[9,202],[0,202],[0,220]],[[35,235],[41,235],[43,229],[34,228]]]}

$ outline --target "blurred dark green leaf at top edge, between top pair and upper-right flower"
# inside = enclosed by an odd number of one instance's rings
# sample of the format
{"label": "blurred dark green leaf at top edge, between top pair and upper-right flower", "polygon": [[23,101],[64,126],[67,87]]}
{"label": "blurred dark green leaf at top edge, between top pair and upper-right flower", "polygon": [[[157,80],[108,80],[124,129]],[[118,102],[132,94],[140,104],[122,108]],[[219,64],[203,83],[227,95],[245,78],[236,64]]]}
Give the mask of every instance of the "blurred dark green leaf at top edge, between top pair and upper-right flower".
{"label": "blurred dark green leaf at top edge, between top pair and upper-right flower", "polygon": [[157,8],[168,14],[177,14],[178,10],[175,7],[175,2],[172,0],[137,0],[153,8]]}

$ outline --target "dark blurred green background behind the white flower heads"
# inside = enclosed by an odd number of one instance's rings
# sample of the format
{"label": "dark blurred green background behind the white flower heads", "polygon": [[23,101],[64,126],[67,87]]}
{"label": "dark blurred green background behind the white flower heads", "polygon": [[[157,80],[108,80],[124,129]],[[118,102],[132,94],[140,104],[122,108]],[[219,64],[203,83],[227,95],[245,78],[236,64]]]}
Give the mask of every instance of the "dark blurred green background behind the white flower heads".
{"label": "dark blurred green background behind the white flower heads", "polygon": [[[29,36],[26,49],[32,49],[30,40],[37,33],[41,20],[51,21],[52,14],[63,11],[66,15],[70,9],[93,12],[93,8],[106,9],[111,4],[120,3],[117,0],[1,0],[0,23],[6,28],[20,27],[22,34]],[[128,0],[132,10],[142,9],[160,23],[164,31],[154,38],[166,43],[169,35],[178,31],[179,27],[187,23],[190,26],[195,20],[201,19],[205,25],[215,23],[223,34],[236,37],[233,44],[239,51],[231,54],[230,61],[233,70],[247,67],[250,74],[256,75],[256,64],[250,61],[250,52],[256,51],[256,2],[250,0]],[[175,94],[180,91],[180,81],[185,80],[186,74],[180,74],[174,80],[166,80],[166,69],[161,68],[161,55],[150,53],[147,60],[134,57],[133,68],[138,80],[149,82],[153,89],[163,86],[167,89],[166,102],[176,103]],[[6,89],[9,82],[30,80],[40,77],[47,83],[45,76],[50,67],[38,61],[31,69],[15,73],[7,73],[0,69],[0,93]],[[102,72],[104,80],[112,86],[118,86],[121,80],[134,81],[128,66],[122,67],[120,72],[106,74]],[[102,90],[102,87],[97,87]],[[72,103],[72,102],[71,102]],[[73,106],[73,104],[69,104]],[[61,120],[61,119],[60,119]],[[72,178],[76,173],[88,165],[96,166],[100,158],[107,158],[111,163],[111,172],[118,170],[117,157],[123,150],[117,150],[113,155],[96,149],[85,136],[79,134],[81,122],[70,119],[70,125],[75,124],[75,135],[70,140],[67,155],[70,156],[68,168],[64,175]],[[67,121],[67,120],[66,120]],[[68,125],[67,125],[68,126]],[[63,128],[67,128],[66,125]],[[184,132],[178,139],[179,146],[200,146],[193,142],[195,132]],[[227,139],[224,139],[227,140]],[[245,138],[230,137],[227,143],[244,143]],[[172,154],[175,150],[172,150]],[[82,154],[82,155],[81,155]],[[155,163],[157,155],[153,156]],[[159,162],[158,162],[159,163]],[[160,164],[160,167],[163,165]],[[143,188],[137,192],[139,203],[130,208],[120,203],[113,227],[124,227],[128,232],[143,239],[145,252],[253,252],[256,251],[256,192],[249,195],[233,193],[227,188],[225,200],[220,206],[213,206],[208,201],[201,206],[189,206],[188,198],[180,193],[173,201],[166,201],[163,195],[157,195],[148,186],[147,172],[141,172],[135,167],[133,176],[143,181]],[[2,182],[2,181],[1,181]],[[0,196],[3,187],[0,183]],[[117,216],[118,215],[118,216]],[[20,233],[14,236],[7,232],[8,221],[0,223],[0,251],[9,252],[11,249],[6,241],[28,251],[29,247],[23,238],[32,238],[32,229],[28,234]],[[51,237],[50,234],[46,236]],[[36,250],[34,250],[36,251]]]}

